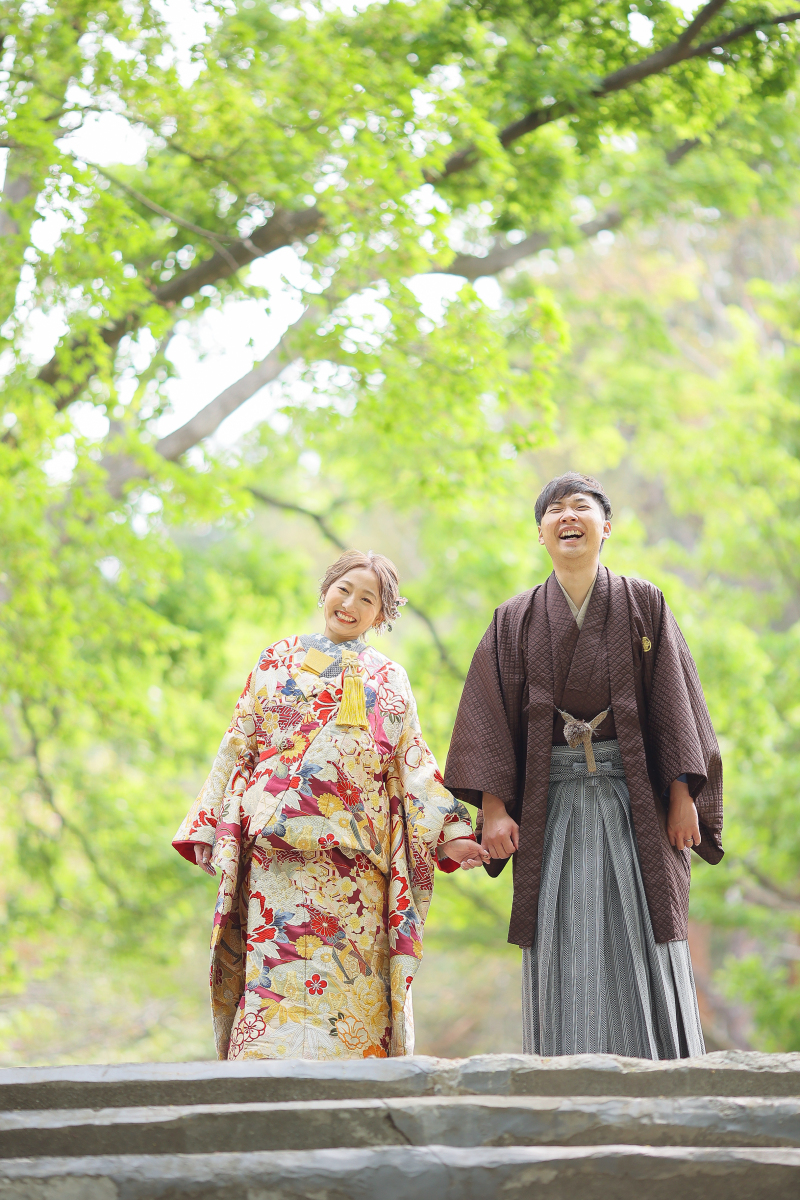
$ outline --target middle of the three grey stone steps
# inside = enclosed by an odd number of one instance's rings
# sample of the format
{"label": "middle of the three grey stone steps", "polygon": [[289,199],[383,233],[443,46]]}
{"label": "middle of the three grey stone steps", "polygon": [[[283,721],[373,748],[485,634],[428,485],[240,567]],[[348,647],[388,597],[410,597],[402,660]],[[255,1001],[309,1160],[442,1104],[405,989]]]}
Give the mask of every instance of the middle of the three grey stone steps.
{"label": "middle of the three grey stone steps", "polygon": [[0,1114],[0,1158],[392,1145],[800,1146],[800,1098],[452,1096]]}

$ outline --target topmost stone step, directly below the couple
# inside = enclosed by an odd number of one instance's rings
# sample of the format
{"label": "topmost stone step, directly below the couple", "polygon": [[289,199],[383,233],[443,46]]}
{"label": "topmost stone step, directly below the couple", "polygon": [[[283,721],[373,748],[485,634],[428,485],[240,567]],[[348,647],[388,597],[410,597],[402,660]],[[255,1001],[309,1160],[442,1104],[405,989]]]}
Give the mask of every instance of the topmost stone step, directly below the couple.
{"label": "topmost stone step, directly below the couple", "polygon": [[615,1055],[143,1063],[0,1070],[0,1111],[283,1103],[402,1096],[800,1096],[800,1054]]}

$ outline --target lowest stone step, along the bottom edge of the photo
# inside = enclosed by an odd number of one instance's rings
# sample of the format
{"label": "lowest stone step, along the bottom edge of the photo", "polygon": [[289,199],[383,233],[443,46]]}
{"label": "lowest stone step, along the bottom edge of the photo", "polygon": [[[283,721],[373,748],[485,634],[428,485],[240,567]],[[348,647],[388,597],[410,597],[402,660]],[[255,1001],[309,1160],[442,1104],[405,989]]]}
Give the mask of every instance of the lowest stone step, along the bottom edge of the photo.
{"label": "lowest stone step, along the bottom edge of the photo", "polygon": [[796,1200],[800,1150],[385,1146],[6,1159],[0,1200]]}

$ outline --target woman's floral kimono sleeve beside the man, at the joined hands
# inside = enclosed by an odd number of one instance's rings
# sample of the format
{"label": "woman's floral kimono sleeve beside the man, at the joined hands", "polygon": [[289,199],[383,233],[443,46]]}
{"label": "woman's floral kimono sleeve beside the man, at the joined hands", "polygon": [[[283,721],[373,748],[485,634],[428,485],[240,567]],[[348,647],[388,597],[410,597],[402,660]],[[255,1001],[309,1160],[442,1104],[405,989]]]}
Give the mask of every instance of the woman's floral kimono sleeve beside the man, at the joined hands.
{"label": "woman's floral kimono sleeve beside the man, at the joined hands", "polygon": [[423,842],[428,851],[435,852],[443,871],[455,871],[458,863],[444,857],[441,851],[456,838],[474,839],[473,824],[464,805],[445,787],[437,760],[422,737],[410,689],[407,695],[403,730],[387,780],[390,794],[403,803],[411,845]]}

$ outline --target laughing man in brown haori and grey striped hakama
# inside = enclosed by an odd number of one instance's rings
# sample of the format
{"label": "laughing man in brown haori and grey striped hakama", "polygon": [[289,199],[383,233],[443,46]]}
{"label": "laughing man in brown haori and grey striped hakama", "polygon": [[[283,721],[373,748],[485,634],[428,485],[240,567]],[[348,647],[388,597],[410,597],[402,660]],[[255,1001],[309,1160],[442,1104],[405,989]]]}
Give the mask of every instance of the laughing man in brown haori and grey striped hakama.
{"label": "laughing man in brown haori and grey striped hakama", "polygon": [[722,858],[722,764],[663,595],[600,563],[610,516],[590,476],[542,491],[554,570],[495,611],[445,784],[482,809],[489,874],[513,858],[525,1052],[679,1058],[704,1052],[690,858]]}

